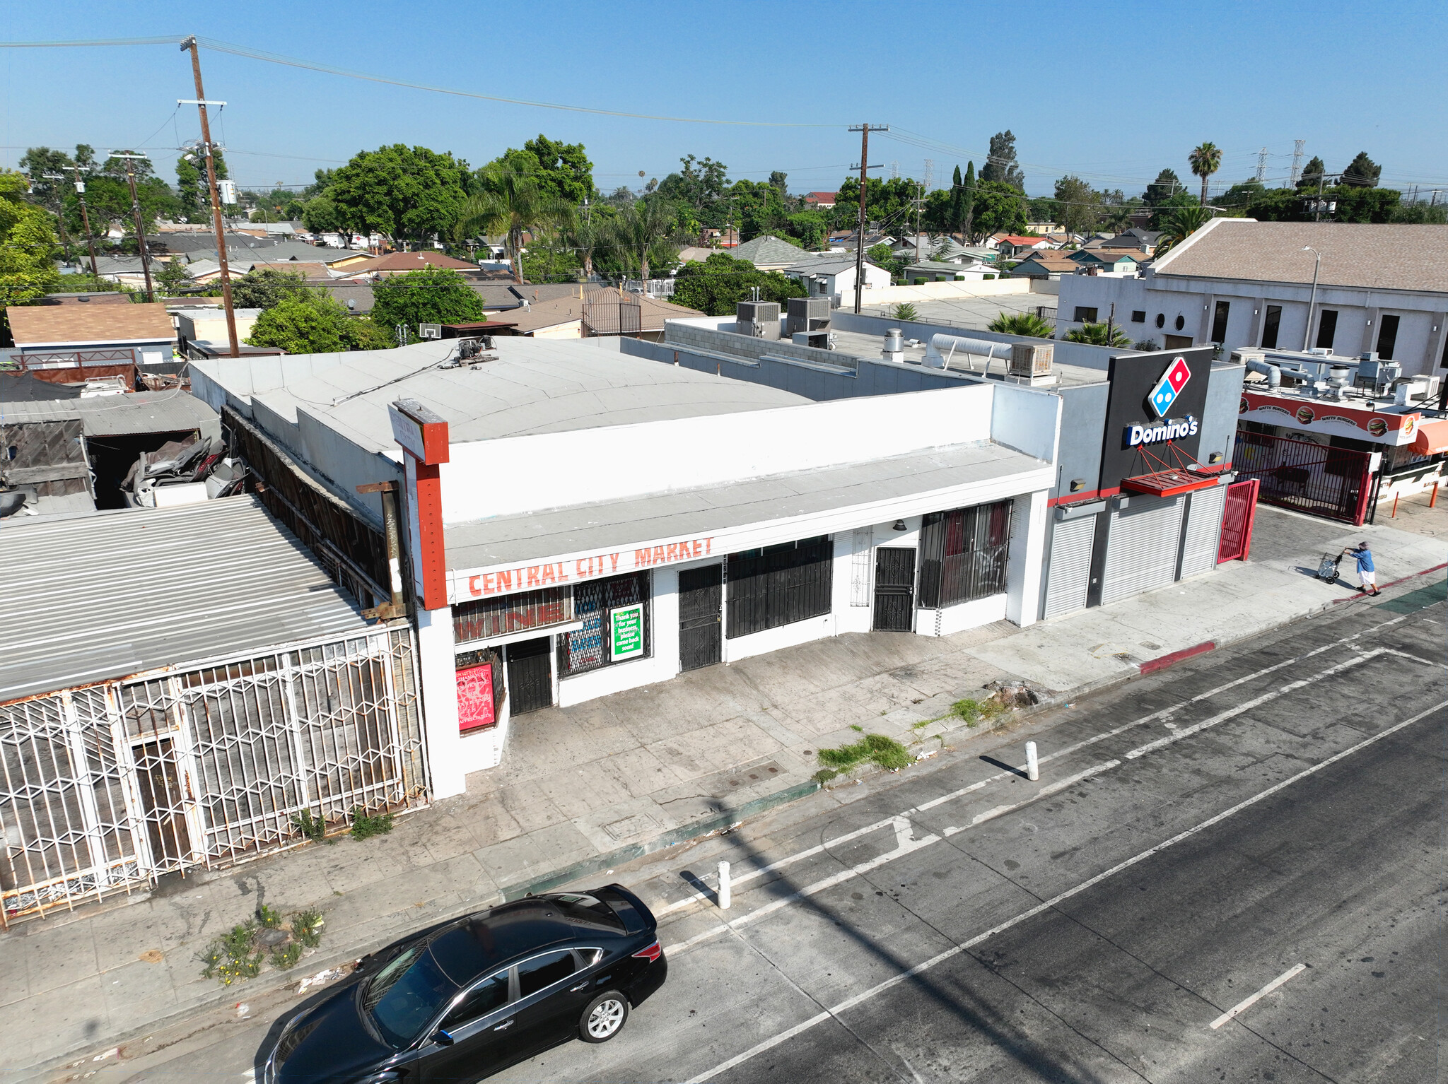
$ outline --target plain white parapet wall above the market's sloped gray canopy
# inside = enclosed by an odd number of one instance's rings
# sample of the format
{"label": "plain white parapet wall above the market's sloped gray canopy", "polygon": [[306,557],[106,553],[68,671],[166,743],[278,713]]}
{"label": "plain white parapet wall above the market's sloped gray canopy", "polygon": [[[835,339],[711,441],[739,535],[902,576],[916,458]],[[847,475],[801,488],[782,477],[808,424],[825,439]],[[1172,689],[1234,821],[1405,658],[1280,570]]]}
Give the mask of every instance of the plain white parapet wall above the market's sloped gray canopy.
{"label": "plain white parapet wall above the market's sloped gray canopy", "polygon": [[443,522],[989,440],[993,391],[982,384],[453,444],[442,467]]}

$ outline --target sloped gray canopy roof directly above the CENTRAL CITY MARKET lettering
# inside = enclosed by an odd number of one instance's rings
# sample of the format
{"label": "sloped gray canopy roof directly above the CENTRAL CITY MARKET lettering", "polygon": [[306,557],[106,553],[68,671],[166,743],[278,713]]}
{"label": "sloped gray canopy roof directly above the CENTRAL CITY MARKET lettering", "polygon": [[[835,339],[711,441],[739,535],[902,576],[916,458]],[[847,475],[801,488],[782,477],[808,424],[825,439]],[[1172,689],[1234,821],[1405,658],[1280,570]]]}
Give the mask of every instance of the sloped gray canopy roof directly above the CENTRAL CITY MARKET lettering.
{"label": "sloped gray canopy roof directly above the CENTRAL CITY MARKET lettering", "polygon": [[500,515],[443,530],[450,569],[485,569],[656,538],[696,537],[1043,467],[1001,444],[954,444],[864,463],[752,478],[547,512]]}

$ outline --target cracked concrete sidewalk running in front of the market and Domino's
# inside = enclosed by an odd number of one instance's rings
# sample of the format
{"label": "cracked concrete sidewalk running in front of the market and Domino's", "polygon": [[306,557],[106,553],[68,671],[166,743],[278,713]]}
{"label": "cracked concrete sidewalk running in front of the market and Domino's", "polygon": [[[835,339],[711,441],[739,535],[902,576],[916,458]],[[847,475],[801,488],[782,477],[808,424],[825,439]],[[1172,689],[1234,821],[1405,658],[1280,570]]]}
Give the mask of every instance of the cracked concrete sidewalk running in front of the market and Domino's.
{"label": "cracked concrete sidewalk running in front of the market and Domino's", "polygon": [[[918,724],[988,682],[1077,696],[1138,674],[1142,663],[1351,605],[1351,588],[1313,579],[1321,554],[1367,537],[1383,585],[1441,567],[1444,533],[1415,525],[1419,533],[1381,520],[1344,528],[1261,508],[1251,562],[1112,606],[940,640],[844,635],[529,715],[502,767],[471,777],[466,795],[400,819],[391,835],[168,878],[0,935],[0,1080],[792,800],[815,789],[821,747],[859,738],[851,727],[937,748],[930,738],[946,735],[951,719]],[[1403,589],[1441,580],[1435,573]],[[321,949],[290,974],[268,970],[230,988],[200,978],[195,952],[261,903],[282,913],[321,906]]]}

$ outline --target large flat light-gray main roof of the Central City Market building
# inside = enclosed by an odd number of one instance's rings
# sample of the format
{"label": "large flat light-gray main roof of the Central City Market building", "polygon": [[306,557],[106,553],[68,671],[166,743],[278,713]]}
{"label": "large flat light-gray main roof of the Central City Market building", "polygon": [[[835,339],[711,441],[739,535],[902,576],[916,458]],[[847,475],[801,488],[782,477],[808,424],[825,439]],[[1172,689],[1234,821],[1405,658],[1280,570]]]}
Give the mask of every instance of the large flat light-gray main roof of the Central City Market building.
{"label": "large flat light-gray main roof of the Central City Market building", "polygon": [[[455,444],[809,402],[778,388],[631,357],[592,340],[500,336],[489,352],[498,360],[439,369],[453,347],[443,340],[395,350],[294,355],[236,378],[226,366],[193,365],[281,417],[295,418],[301,407],[369,452],[397,449],[387,408],[404,398],[446,418]],[[311,366],[311,359],[324,359],[330,368],[285,381],[288,368]],[[269,378],[258,376],[264,372]],[[343,397],[352,398],[339,402]]]}

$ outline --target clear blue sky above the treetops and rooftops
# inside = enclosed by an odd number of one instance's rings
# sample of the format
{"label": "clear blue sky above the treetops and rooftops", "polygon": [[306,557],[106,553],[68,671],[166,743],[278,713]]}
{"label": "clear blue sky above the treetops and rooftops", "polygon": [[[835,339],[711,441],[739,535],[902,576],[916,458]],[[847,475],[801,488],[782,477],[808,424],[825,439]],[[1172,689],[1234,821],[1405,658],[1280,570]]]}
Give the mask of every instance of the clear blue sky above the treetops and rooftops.
{"label": "clear blue sky above the treetops and rooftops", "polygon": [[[789,174],[835,188],[859,161],[844,126],[891,123],[870,164],[935,184],[979,169],[1011,129],[1031,194],[1074,172],[1141,191],[1186,153],[1225,151],[1224,184],[1268,184],[1305,159],[1342,169],[1358,151],[1383,182],[1448,190],[1448,4],[1438,3],[277,3],[77,0],[7,6],[0,38],[197,33],[417,82],[633,113],[835,127],[685,124],[446,97],[203,51],[206,91],[229,104],[217,137],[245,187],[303,184],[359,149],[416,143],[481,165],[539,132],[582,142],[601,188],[663,178],[685,153],[730,177]],[[0,49],[0,162],[26,146],[143,145],[174,179],[195,137],[187,58],[169,45]],[[911,136],[914,139],[914,136]],[[1445,192],[1448,194],[1448,192]],[[1445,197],[1439,197],[1445,198]]]}

